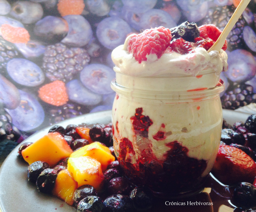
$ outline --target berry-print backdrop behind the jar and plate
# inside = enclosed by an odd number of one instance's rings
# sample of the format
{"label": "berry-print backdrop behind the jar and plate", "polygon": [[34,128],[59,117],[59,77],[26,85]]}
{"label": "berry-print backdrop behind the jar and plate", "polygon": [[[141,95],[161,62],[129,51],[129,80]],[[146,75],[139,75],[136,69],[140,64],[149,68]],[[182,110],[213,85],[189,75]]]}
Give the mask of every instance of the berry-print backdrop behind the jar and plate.
{"label": "berry-print backdrop behind the jar and plate", "polygon": [[[222,30],[237,2],[0,0],[0,107],[5,108],[0,115],[7,112],[8,126],[26,138],[49,124],[111,109],[111,51],[127,35],[150,27],[174,28],[187,20]],[[256,99],[255,11],[251,1],[227,39],[229,69],[221,76],[224,108]],[[14,130],[5,125],[1,140],[10,140]]]}

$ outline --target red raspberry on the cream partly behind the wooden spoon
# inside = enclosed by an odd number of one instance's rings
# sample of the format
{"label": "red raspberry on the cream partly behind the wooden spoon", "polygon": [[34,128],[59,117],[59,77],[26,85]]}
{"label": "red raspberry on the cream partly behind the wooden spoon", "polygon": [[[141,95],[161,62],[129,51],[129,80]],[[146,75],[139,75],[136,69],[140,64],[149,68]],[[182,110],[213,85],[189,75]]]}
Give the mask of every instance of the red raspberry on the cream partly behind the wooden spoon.
{"label": "red raspberry on the cream partly behind the wooden spoon", "polygon": [[[202,25],[198,29],[200,31],[200,37],[204,38],[205,40],[208,40],[210,38],[213,41],[217,41],[222,32],[213,24]],[[225,44],[223,45],[222,49],[224,51],[227,49],[227,40],[225,41]]]}

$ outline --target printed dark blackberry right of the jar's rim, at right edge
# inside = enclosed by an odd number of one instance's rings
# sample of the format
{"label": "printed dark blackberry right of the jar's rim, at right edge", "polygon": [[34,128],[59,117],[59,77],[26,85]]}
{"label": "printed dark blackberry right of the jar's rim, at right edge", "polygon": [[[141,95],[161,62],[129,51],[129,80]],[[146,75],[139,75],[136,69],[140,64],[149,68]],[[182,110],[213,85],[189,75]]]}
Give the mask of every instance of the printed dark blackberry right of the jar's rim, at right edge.
{"label": "printed dark blackberry right of the jar's rim, at right edge", "polygon": [[234,83],[229,88],[233,90],[227,90],[221,97],[222,108],[235,110],[256,102],[256,94],[251,85]]}

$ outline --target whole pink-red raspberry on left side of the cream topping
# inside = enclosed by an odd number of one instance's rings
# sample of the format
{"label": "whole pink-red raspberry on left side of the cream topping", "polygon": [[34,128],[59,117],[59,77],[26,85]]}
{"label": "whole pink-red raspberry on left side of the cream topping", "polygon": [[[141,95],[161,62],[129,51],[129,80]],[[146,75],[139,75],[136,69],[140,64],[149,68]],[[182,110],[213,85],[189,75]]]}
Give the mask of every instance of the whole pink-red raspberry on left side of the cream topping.
{"label": "whole pink-red raspberry on left side of the cream topping", "polygon": [[168,28],[158,27],[146,29],[128,41],[128,52],[132,53],[139,63],[147,60],[147,55],[156,54],[160,58],[172,39]]}

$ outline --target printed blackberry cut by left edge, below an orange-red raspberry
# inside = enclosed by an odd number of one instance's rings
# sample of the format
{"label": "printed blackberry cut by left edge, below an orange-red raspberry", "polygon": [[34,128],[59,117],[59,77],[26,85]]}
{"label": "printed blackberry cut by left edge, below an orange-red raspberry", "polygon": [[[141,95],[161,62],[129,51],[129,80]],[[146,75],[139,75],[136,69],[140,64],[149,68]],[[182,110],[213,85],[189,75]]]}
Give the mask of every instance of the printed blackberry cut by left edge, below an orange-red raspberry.
{"label": "printed blackberry cut by left edge, below an orange-red raspberry", "polygon": [[20,56],[15,45],[0,36],[0,73],[5,74],[6,64],[9,60]]}

